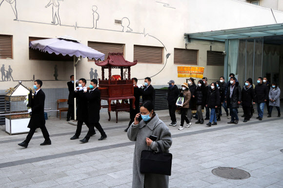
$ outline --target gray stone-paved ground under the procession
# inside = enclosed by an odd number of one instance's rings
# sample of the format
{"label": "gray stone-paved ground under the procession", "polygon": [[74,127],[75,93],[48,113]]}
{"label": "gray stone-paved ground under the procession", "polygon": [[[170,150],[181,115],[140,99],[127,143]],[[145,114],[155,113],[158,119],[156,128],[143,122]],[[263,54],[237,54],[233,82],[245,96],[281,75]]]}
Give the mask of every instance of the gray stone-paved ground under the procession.
{"label": "gray stone-paved ground under the procession", "polygon": [[[266,112],[266,110],[265,110]],[[167,111],[158,111],[167,116]],[[172,175],[169,186],[175,188],[283,188],[283,117],[263,121],[254,116],[250,122],[227,124],[222,116],[217,126],[195,124],[182,131],[168,126],[173,137]],[[240,110],[239,115],[243,113]],[[114,113],[112,113],[114,115]],[[132,182],[134,142],[123,130],[129,113],[119,113],[119,122],[107,121],[101,113],[101,125],[108,138],[98,141],[99,132],[86,144],[70,140],[76,126],[65,119],[49,118],[46,127],[52,145],[40,146],[42,134],[36,132],[27,149],[17,144],[26,134],[0,132],[0,188],[127,188]],[[180,117],[179,114],[177,114]],[[164,118],[166,119],[166,118]],[[169,120],[164,120],[169,124]],[[208,121],[205,121],[206,123]],[[180,119],[179,122],[180,124]],[[4,129],[4,127],[0,127]],[[86,134],[83,126],[81,138]],[[246,170],[251,177],[229,180],[211,173],[218,167]]]}

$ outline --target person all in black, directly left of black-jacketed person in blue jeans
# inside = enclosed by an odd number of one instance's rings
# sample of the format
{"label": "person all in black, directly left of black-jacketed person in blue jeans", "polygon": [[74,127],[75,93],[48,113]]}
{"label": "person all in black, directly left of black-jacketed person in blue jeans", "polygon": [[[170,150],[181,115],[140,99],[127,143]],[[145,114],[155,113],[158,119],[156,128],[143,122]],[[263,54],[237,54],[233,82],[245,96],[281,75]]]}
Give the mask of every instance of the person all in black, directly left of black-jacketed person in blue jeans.
{"label": "person all in black, directly left of black-jacketed person in blue jeans", "polygon": [[248,78],[242,89],[242,106],[243,106],[243,122],[247,122],[251,118],[251,106],[254,99],[254,88],[253,88],[253,80],[252,78]]}

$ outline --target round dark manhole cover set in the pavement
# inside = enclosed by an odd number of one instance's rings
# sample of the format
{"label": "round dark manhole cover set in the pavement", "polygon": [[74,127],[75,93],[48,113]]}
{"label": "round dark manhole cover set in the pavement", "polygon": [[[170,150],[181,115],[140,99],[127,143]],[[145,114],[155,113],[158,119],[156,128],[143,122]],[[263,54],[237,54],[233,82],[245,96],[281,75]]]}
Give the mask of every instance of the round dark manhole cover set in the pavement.
{"label": "round dark manhole cover set in the pavement", "polygon": [[243,180],[251,176],[248,172],[242,169],[234,169],[230,167],[219,167],[213,169],[211,172],[218,177],[232,180]]}

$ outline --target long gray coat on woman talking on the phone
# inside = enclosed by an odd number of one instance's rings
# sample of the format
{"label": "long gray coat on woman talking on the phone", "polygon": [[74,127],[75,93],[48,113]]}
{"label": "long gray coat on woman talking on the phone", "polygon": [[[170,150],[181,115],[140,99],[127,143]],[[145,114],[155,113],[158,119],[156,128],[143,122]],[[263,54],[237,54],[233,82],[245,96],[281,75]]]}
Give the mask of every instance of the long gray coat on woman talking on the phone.
{"label": "long gray coat on woman talking on the phone", "polygon": [[[168,188],[169,176],[161,174],[142,174],[140,172],[142,150],[148,149],[145,141],[146,137],[149,137],[151,134],[157,136],[156,142],[160,143],[162,152],[169,152],[168,149],[172,144],[172,139],[171,132],[169,132],[165,123],[159,119],[157,114],[155,114],[147,124],[145,124],[143,120],[138,125],[132,123],[127,134],[131,141],[136,141],[132,187],[144,188],[145,186],[145,188]],[[156,142],[151,143],[149,150],[157,150],[157,152],[160,152]]]}

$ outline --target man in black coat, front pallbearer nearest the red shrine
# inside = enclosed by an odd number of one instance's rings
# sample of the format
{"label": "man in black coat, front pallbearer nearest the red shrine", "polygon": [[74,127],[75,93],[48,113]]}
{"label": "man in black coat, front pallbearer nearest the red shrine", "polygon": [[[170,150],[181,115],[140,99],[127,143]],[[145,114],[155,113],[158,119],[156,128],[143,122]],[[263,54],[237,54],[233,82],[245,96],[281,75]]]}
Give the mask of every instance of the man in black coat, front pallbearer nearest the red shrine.
{"label": "man in black coat, front pallbearer nearest the red shrine", "polygon": [[97,88],[97,79],[92,79],[90,81],[90,92],[87,92],[87,88],[83,89],[83,93],[80,93],[82,97],[88,101],[88,132],[86,136],[80,140],[82,143],[88,142],[90,136],[94,134],[94,127],[101,133],[101,138],[98,140],[103,140],[107,138],[107,135],[103,131],[99,120],[100,120],[100,91]]}

